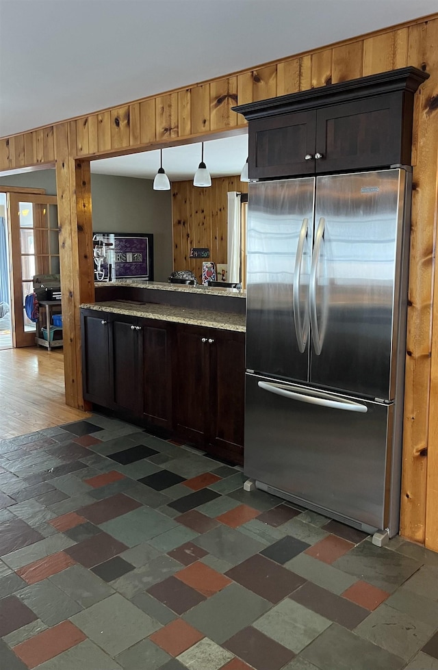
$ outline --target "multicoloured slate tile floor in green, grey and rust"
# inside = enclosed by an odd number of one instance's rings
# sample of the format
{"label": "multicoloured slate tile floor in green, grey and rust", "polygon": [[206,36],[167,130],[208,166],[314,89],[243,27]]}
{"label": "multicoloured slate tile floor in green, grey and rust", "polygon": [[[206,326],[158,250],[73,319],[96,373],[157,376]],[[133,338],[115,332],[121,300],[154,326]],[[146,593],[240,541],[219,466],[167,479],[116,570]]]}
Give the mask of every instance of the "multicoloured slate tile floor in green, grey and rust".
{"label": "multicoloured slate tile floor in green, grey and rust", "polygon": [[0,670],[438,670],[438,554],[101,415],[0,441]]}

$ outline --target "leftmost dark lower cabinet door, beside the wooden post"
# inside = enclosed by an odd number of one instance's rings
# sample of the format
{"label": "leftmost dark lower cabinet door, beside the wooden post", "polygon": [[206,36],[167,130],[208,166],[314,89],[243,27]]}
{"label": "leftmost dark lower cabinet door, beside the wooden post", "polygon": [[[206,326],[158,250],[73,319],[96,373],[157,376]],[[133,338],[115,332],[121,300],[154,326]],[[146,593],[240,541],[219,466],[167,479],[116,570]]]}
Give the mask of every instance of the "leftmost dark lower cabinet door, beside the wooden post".
{"label": "leftmost dark lower cabinet door, beside the wooden post", "polygon": [[81,309],[83,397],[110,407],[109,315]]}

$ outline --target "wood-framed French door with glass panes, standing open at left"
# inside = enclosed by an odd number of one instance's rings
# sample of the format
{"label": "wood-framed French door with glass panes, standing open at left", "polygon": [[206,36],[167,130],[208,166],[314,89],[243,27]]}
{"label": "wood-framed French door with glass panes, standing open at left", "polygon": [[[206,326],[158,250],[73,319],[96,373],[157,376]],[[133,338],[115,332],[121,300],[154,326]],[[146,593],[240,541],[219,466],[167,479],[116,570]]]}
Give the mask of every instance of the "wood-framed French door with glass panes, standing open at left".
{"label": "wood-framed French door with glass panes, standing open at left", "polygon": [[25,298],[34,276],[60,274],[56,196],[9,193],[14,346],[35,344],[36,324],[27,318]]}

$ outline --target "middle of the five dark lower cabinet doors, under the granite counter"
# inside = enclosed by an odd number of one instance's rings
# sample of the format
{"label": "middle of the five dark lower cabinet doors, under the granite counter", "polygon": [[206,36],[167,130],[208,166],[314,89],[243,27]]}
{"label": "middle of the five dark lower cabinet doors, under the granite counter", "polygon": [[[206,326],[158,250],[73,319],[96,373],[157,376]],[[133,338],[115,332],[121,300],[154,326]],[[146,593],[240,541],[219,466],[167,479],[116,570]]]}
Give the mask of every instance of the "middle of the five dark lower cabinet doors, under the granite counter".
{"label": "middle of the five dark lower cabinet doors, under the granite counter", "polygon": [[143,336],[143,418],[172,428],[172,324],[140,319]]}

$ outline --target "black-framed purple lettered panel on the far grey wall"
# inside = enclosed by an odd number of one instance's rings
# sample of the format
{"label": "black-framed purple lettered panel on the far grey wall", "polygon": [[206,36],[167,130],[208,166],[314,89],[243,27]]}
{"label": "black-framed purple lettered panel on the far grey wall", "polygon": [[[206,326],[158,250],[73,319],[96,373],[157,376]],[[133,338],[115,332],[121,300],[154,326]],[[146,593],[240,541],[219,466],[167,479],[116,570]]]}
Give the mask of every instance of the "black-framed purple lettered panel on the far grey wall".
{"label": "black-framed purple lettered panel on the far grey wall", "polygon": [[93,233],[95,281],[153,281],[152,233]]}

